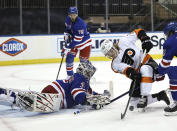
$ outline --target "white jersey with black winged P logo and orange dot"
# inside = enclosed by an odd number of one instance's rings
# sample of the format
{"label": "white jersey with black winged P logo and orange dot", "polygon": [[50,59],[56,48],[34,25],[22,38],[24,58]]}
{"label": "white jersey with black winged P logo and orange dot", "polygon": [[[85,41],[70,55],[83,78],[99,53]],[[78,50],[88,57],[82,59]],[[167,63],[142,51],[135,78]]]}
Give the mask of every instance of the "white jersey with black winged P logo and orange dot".
{"label": "white jersey with black winged P logo and orange dot", "polygon": [[116,73],[125,74],[128,67],[138,69],[143,52],[135,45],[138,40],[135,32],[122,37],[116,43],[119,47],[118,56],[112,60],[112,70]]}

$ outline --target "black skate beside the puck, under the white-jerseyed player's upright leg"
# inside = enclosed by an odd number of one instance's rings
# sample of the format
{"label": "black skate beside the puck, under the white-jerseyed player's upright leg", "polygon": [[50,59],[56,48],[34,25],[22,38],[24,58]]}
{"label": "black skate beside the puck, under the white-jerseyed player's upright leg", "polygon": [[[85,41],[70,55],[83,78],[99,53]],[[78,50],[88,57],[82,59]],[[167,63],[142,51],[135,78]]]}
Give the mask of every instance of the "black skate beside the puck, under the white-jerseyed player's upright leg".
{"label": "black skate beside the puck, under the white-jerseyed player's upright leg", "polygon": [[139,112],[145,112],[145,107],[147,106],[147,96],[142,96],[140,98],[139,103],[137,104],[137,108]]}

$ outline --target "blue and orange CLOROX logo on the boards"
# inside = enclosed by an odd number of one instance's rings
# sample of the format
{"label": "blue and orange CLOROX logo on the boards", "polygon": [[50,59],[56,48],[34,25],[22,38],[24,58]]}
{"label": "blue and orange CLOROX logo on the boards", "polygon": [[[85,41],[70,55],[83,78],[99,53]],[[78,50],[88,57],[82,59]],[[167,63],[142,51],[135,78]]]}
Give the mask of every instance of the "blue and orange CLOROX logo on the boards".
{"label": "blue and orange CLOROX logo on the boards", "polygon": [[16,56],[26,50],[26,48],[27,44],[15,38],[10,38],[0,45],[0,51],[10,56]]}

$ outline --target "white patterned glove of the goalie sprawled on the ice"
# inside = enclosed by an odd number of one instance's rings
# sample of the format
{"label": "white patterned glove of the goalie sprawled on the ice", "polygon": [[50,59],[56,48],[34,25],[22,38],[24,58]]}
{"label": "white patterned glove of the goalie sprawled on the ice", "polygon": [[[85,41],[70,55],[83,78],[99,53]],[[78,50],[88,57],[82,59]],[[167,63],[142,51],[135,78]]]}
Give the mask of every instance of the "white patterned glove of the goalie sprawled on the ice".
{"label": "white patterned glove of the goalie sprawled on the ice", "polygon": [[99,95],[92,95],[92,94],[87,94],[86,95],[86,101],[87,105],[92,106],[93,109],[99,110],[103,108],[104,105],[110,103],[110,93],[109,91],[104,90],[103,94]]}

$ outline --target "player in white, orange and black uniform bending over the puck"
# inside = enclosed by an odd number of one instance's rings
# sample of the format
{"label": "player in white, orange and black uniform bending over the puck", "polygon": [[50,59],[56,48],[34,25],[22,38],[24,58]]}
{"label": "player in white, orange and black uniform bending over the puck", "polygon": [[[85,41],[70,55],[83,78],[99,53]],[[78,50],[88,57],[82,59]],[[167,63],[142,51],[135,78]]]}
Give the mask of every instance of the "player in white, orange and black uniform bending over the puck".
{"label": "player in white, orange and black uniform bending over the puck", "polygon": [[[142,43],[143,51],[135,45],[138,39]],[[105,40],[101,44],[103,54],[112,59],[112,70],[126,75],[133,81],[136,80],[136,87],[140,87],[134,90],[129,109],[137,107],[144,111],[148,104],[159,100],[164,100],[168,105],[170,103],[165,91],[150,95],[152,83],[164,79],[164,76],[158,75],[158,64],[151,56],[146,54],[143,58],[143,52],[148,53],[152,47],[150,37],[143,29],[136,29],[115,43]]]}

